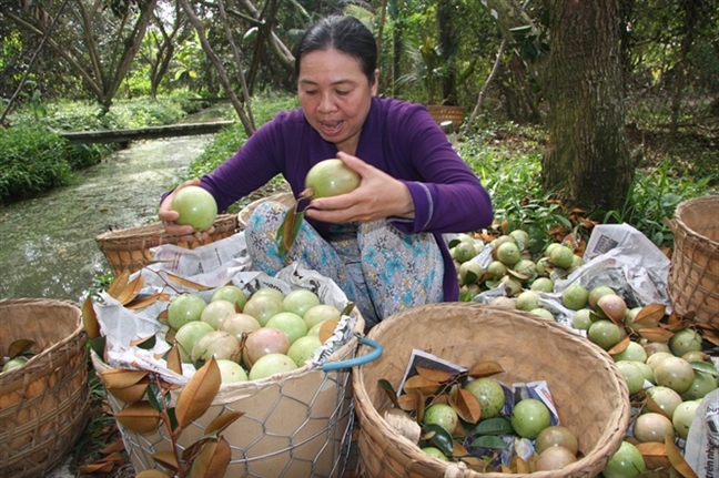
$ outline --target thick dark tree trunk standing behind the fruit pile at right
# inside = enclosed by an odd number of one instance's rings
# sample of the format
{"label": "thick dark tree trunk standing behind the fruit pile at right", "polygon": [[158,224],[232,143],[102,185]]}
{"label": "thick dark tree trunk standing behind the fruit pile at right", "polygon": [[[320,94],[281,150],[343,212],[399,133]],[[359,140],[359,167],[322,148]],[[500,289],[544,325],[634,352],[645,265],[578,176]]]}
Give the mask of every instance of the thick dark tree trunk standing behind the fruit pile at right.
{"label": "thick dark tree trunk standing behind the fruit pile at right", "polygon": [[543,180],[568,205],[619,210],[634,176],[625,136],[618,0],[553,0]]}

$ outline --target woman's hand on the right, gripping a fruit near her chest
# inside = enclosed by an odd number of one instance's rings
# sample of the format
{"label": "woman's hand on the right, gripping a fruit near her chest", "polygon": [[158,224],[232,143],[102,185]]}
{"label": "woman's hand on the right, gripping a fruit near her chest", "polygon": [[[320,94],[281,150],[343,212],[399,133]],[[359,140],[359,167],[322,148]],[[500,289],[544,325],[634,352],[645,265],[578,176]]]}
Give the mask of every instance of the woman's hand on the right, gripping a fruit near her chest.
{"label": "woman's hand on the right, gripping a fruit near her chest", "polygon": [[399,180],[346,153],[337,153],[362,177],[347,194],[313,200],[305,215],[327,223],[371,222],[389,216],[414,217],[409,190]]}

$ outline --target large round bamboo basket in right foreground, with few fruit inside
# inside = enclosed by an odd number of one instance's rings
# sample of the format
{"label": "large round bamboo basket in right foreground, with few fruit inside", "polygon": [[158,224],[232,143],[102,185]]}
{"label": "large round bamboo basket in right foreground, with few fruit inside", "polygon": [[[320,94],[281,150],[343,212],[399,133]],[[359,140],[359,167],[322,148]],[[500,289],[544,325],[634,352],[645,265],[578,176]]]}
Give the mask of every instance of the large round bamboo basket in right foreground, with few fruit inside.
{"label": "large round bamboo basket in right foreground, with few fruit inside", "polygon": [[[529,313],[475,303],[444,303],[403,311],[385,318],[367,335],[384,345],[384,355],[353,370],[360,419],[360,468],[368,477],[474,477],[463,465],[425,455],[387,425],[381,411],[391,406],[377,380],[398,387],[413,348],[470,368],[498,362],[505,383],[546,380],[561,425],[578,438],[581,459],[558,471],[531,478],[594,477],[625,437],[630,416],[626,382],[611,357],[564,326]],[[368,347],[360,347],[360,354]],[[529,475],[514,475],[528,477]]]}

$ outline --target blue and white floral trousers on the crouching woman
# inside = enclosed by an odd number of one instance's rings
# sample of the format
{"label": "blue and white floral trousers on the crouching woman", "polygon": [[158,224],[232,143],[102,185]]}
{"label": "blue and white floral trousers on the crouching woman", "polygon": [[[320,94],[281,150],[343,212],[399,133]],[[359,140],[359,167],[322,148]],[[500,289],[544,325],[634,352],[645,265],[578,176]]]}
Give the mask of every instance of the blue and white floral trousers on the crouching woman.
{"label": "blue and white floral trousers on the crouching woman", "polygon": [[245,240],[255,269],[274,275],[296,262],[332,278],[360,308],[366,328],[405,308],[443,301],[444,261],[434,235],[404,234],[382,220],[337,224],[326,240],[303,221],[282,256],[275,238],[286,210],[265,202],[247,221]]}

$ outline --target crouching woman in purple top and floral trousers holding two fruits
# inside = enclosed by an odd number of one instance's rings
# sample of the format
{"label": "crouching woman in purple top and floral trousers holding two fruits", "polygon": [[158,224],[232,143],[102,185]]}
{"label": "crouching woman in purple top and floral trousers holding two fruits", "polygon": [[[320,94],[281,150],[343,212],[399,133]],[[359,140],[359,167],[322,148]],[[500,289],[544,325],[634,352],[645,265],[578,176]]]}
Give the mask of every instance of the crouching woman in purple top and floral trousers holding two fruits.
{"label": "crouching woman in purple top and floral trousers holding two fruits", "polygon": [[[285,207],[266,202],[245,231],[256,269],[293,261],[333,278],[368,326],[403,308],[456,301],[456,271],[443,233],[486,227],[487,192],[422,105],[377,94],[375,39],[353,17],[314,24],[295,49],[301,108],[279,113],[226,162],[200,180],[220,211],[281,173],[295,196],[312,165],[341,159],[362,177],[351,193],[313,200],[286,255],[276,231]],[[171,234],[172,193],[159,216]]]}

